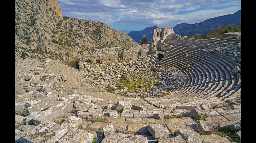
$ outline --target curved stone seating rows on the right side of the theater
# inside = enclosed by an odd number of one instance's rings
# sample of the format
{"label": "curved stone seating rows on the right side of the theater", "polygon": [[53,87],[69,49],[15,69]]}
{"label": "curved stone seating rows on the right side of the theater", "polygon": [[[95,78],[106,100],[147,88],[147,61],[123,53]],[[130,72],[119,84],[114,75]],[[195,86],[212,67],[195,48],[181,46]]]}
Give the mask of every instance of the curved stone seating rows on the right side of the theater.
{"label": "curved stone seating rows on the right side of the theater", "polygon": [[237,80],[232,72],[237,65],[232,59],[221,54],[205,53],[199,49],[172,46],[160,66],[176,67],[186,73],[189,79],[184,83],[185,88],[173,90],[165,97],[154,99],[154,103],[169,104],[169,107],[178,103],[199,104],[205,100],[221,103],[227,98],[235,98],[241,94],[241,79]]}

